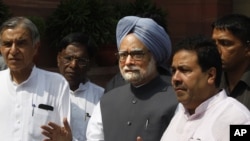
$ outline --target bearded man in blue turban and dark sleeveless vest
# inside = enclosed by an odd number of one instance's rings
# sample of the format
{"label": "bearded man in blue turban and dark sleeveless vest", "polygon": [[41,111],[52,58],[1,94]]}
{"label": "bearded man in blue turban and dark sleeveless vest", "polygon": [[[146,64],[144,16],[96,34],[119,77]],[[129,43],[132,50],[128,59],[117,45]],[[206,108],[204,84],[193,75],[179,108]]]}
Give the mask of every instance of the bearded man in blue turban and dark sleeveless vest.
{"label": "bearded man in blue turban and dark sleeveless vest", "polygon": [[87,140],[160,140],[177,105],[173,88],[157,71],[171,55],[169,36],[152,19],[136,16],[122,18],[116,33],[120,72],[129,83],[102,97]]}

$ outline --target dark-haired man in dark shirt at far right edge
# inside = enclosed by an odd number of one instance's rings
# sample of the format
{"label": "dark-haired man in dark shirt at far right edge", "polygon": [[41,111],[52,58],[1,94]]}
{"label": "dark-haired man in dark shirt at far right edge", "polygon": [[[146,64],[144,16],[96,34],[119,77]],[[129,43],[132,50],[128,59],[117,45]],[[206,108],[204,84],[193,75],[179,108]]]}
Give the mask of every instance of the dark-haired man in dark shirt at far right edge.
{"label": "dark-haired man in dark shirt at far right edge", "polygon": [[231,14],[212,24],[212,38],[221,54],[221,86],[250,109],[250,18]]}

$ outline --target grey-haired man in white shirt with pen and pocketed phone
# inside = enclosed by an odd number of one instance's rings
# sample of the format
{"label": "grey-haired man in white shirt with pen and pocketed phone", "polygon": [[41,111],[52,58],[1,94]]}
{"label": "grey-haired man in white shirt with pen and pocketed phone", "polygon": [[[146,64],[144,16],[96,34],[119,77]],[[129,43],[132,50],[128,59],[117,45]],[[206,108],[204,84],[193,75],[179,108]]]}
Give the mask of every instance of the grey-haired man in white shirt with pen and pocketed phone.
{"label": "grey-haired man in white shirt with pen and pocketed phone", "polygon": [[68,83],[34,65],[39,46],[39,32],[27,18],[13,17],[2,24],[0,49],[8,69],[0,71],[1,140],[41,141],[41,125],[70,120]]}

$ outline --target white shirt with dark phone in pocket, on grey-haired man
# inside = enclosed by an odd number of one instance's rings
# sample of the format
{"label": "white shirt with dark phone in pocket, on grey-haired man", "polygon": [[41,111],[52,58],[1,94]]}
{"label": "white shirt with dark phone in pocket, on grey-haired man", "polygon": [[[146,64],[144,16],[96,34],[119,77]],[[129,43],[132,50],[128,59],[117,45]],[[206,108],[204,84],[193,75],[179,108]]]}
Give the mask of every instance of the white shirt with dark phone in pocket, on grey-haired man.
{"label": "white shirt with dark phone in pocket, on grey-haired man", "polygon": [[33,67],[21,84],[0,71],[0,137],[3,141],[41,141],[41,125],[70,120],[69,86],[59,74]]}

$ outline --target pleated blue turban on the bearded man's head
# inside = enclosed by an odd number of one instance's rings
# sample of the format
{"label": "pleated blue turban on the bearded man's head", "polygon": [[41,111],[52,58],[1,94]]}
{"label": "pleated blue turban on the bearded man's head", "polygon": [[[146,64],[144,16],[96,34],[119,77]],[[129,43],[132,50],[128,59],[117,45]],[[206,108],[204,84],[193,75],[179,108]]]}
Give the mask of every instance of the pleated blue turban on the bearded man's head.
{"label": "pleated blue turban on the bearded man's head", "polygon": [[166,68],[166,63],[171,56],[171,41],[165,30],[150,18],[126,16],[122,18],[116,27],[117,47],[123,38],[134,33],[135,36],[153,53],[159,66]]}

